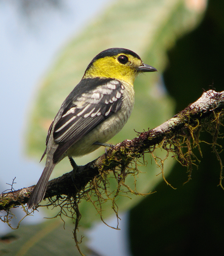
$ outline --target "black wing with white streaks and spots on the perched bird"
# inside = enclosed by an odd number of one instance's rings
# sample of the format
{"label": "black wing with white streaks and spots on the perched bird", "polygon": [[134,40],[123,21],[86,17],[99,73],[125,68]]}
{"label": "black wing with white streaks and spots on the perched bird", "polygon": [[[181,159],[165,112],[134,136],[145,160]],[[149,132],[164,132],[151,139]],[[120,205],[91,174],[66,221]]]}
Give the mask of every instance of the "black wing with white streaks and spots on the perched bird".
{"label": "black wing with white streaks and spots on the perched bird", "polygon": [[54,162],[74,143],[121,108],[124,87],[119,81],[85,80],[88,81],[78,84],[79,87],[75,87],[63,103],[61,118],[54,126],[53,137],[59,145],[54,153]]}

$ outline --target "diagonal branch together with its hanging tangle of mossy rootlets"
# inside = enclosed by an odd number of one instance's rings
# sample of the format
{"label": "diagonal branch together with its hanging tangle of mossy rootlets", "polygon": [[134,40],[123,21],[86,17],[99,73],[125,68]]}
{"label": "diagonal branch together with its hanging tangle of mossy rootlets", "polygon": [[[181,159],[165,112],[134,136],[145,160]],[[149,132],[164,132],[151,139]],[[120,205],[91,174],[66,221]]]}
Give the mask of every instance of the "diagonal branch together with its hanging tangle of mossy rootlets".
{"label": "diagonal branch together with its hanging tangle of mossy rootlets", "polygon": [[[51,205],[62,207],[58,214],[61,217],[64,212],[63,207],[70,209],[72,218],[77,213],[78,218],[81,217],[78,211],[78,203],[81,199],[92,202],[100,216],[101,204],[104,201],[111,200],[112,208],[116,213],[117,219],[119,219],[116,197],[122,195],[122,193],[125,193],[128,197],[128,192],[142,195],[136,190],[136,187],[134,190],[128,187],[125,184],[125,178],[128,175],[132,175],[135,182],[138,182],[136,177],[138,174],[138,161],[144,163],[144,154],[151,154],[152,159],[161,168],[165,181],[163,167],[166,158],[170,157],[171,154],[182,166],[187,167],[189,181],[193,166],[200,164],[200,159],[194,153],[196,148],[200,157],[202,157],[200,149],[200,143],[202,143],[200,140],[201,131],[211,134],[212,142],[203,142],[211,144],[211,151],[216,154],[220,162],[219,185],[223,188],[223,164],[219,156],[221,148],[217,143],[218,139],[223,138],[220,133],[220,128],[223,126],[223,116],[224,91],[206,91],[196,102],[190,104],[165,123],[154,129],[138,133],[138,137],[132,140],[124,140],[111,147],[107,154],[101,155],[101,157],[84,166],[78,166],[74,179],[72,179],[72,172],[70,172],[49,181],[45,198],[50,198]],[[155,149],[158,147],[166,150],[165,159],[160,159],[155,154]],[[109,171],[112,171],[110,173],[113,173],[113,178],[117,181],[117,190],[112,192],[108,191]],[[169,183],[167,182],[167,184]],[[34,186],[17,191],[12,189],[9,192],[2,193],[0,195],[0,211],[8,212],[7,216],[9,216],[10,208],[27,203],[33,188]],[[62,197],[62,195],[64,196]],[[55,199],[52,198],[53,196],[56,196]],[[73,203],[74,205],[71,206]],[[1,217],[3,221],[5,221],[4,216],[3,214]],[[101,219],[103,220],[102,217]],[[5,222],[8,222],[7,220]]]}

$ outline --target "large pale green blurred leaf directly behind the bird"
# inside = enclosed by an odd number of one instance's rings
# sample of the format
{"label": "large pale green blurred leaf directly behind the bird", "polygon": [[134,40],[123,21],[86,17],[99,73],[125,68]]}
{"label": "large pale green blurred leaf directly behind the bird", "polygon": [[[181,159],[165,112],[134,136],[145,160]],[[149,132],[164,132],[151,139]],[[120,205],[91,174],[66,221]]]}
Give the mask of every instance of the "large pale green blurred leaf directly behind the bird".
{"label": "large pale green blurred leaf directly behind the bird", "polygon": [[[174,113],[175,103],[167,95],[162,83],[162,72],[167,65],[166,51],[174,45],[176,38],[192,30],[200,22],[204,9],[194,9],[182,0],[126,0],[113,3],[108,10],[97,19],[89,22],[88,27],[61,50],[57,62],[51,68],[40,86],[39,95],[34,103],[27,131],[27,152],[38,157],[45,150],[47,130],[61,103],[81,80],[85,68],[93,57],[104,49],[112,47],[128,48],[140,55],[144,63],[158,69],[136,79],[135,108],[123,130],[109,143],[116,144],[124,139],[132,139],[136,132],[154,128],[169,119]],[[134,131],[135,129],[135,131]],[[104,149],[75,159],[77,164],[85,164],[100,154]],[[165,158],[166,152],[157,153]],[[147,166],[139,166],[143,173],[138,175],[137,189],[146,193],[152,191],[161,181],[161,172],[150,156],[145,158]],[[174,160],[165,161],[167,175]],[[54,170],[54,177],[71,170],[68,159],[63,159]],[[39,177],[36,178],[38,180]],[[134,178],[127,178],[127,185],[134,188]],[[111,190],[116,189],[116,183],[111,179]],[[132,200],[121,196],[117,200],[119,211],[127,210],[141,197],[127,194]],[[90,225],[97,212],[90,203],[81,202],[81,225]],[[55,214],[54,211],[53,214]],[[103,217],[112,214],[111,203],[104,207]],[[48,211],[49,214],[51,214]]]}

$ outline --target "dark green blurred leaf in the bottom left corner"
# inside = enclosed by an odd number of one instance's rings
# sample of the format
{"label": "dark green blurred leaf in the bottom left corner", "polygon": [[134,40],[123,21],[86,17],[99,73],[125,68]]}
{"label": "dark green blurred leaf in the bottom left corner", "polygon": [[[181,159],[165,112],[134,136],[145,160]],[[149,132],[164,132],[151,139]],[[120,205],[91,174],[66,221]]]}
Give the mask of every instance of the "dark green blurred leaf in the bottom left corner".
{"label": "dark green blurred leaf in the bottom left corner", "polygon": [[[0,238],[0,255],[3,256],[76,256],[80,255],[73,239],[73,223],[59,219],[38,225],[20,225],[19,229]],[[82,250],[85,252],[85,242]]]}

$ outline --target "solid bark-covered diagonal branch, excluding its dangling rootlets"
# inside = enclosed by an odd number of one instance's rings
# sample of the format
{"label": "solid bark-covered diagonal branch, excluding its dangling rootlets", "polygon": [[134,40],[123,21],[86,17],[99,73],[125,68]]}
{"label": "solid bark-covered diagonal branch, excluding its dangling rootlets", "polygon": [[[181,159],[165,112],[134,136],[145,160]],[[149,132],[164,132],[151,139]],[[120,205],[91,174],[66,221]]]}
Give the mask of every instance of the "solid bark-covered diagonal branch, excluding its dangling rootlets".
{"label": "solid bark-covered diagonal branch, excluding its dangling rootlets", "polygon": [[[75,195],[101,171],[112,170],[118,166],[127,166],[134,158],[141,157],[152,146],[161,143],[165,138],[183,132],[189,124],[201,121],[205,117],[214,115],[224,109],[224,91],[206,91],[194,103],[176,114],[170,120],[158,127],[139,133],[133,140],[124,140],[108,150],[94,161],[78,166],[74,182],[72,172],[63,174],[48,182],[45,198],[60,195]],[[0,195],[0,210],[26,204],[34,185],[17,191],[4,192]]]}

